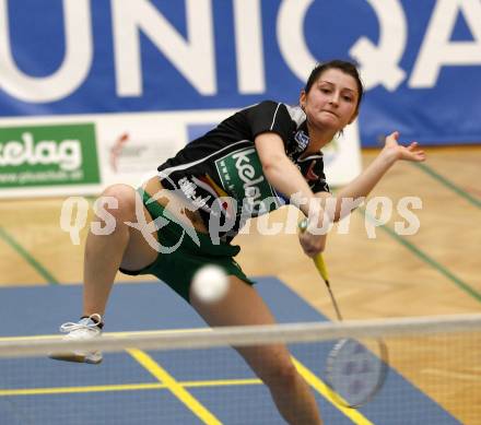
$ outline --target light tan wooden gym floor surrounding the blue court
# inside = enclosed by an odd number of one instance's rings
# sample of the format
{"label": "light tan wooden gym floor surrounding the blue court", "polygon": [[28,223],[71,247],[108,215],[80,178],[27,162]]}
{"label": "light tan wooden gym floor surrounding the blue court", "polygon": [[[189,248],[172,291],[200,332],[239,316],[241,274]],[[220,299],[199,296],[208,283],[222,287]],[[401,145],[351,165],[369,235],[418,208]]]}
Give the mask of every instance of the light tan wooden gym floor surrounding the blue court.
{"label": "light tan wooden gym floor surrounding the blue court", "polygon": [[[371,196],[389,197],[395,206],[403,197],[419,197],[422,209],[413,210],[420,220],[417,234],[397,235],[395,222],[401,217],[395,212],[371,239],[366,225],[372,221],[360,208],[351,216],[348,234],[335,227],[329,236],[325,257],[347,319],[481,310],[481,145],[426,151],[425,164],[397,164]],[[365,150],[364,165],[376,153]],[[0,201],[0,285],[81,282],[86,229],[81,244],[72,245],[69,234],[59,226],[61,204],[62,199],[50,198]],[[271,214],[269,223],[282,222],[285,215],[286,209],[281,209]],[[322,315],[335,319],[330,299],[295,235],[267,237],[254,232],[235,241],[243,247],[238,262],[248,275],[278,276]],[[134,280],[121,274],[117,279]],[[435,355],[435,344],[429,346],[425,342],[423,347]],[[479,364],[458,364],[449,378],[434,374],[425,381],[422,370],[415,367],[417,361],[412,353],[392,358],[394,366],[412,382],[469,423],[472,412],[467,417],[459,406],[481,406]],[[453,383],[451,391],[437,394],[436,386],[446,379]],[[467,391],[467,386],[473,383],[478,391]],[[479,418],[481,408],[477,409]]]}

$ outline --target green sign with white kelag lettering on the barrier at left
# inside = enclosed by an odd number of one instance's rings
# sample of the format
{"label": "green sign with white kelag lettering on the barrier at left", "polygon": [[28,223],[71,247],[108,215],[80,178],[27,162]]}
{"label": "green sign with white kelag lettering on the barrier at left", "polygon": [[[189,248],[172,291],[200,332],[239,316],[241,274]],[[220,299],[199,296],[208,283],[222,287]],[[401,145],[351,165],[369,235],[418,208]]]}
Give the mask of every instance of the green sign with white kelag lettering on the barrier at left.
{"label": "green sign with white kelag lettering on the barrier at left", "polygon": [[0,128],[0,188],[98,182],[93,125]]}

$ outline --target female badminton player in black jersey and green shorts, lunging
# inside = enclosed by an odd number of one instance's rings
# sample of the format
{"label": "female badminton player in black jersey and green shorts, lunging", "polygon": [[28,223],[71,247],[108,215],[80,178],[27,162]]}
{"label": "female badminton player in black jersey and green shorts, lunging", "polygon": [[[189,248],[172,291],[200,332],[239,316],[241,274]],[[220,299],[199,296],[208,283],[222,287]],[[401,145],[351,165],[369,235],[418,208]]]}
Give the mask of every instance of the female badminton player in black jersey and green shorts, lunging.
{"label": "female badminton player in black jersey and green shorts, lunging", "polygon": [[[67,338],[99,335],[118,270],[154,274],[212,327],[273,323],[272,314],[234,260],[239,247],[232,240],[246,219],[285,202],[295,204],[309,217],[312,232],[302,233],[300,244],[314,257],[326,244],[326,234],[314,228],[321,228],[324,220],[339,220],[343,198],[366,197],[398,161],[424,161],[415,143],[403,146],[394,132],[357,178],[336,198],[330,193],[320,149],[356,119],[362,97],[355,66],[340,60],[320,63],[301,91],[297,106],[272,101],[249,106],[161,164],[157,176],[141,189],[108,187],[103,197],[115,201],[106,203],[104,214],[94,221],[101,227],[114,221],[115,228],[87,237],[83,317],[63,328]],[[336,209],[325,217],[322,205],[329,198]],[[143,220],[155,221],[156,226],[132,226]],[[215,303],[206,303],[191,291],[195,272],[207,263],[222,267],[230,279],[228,292]],[[314,396],[285,346],[237,350],[268,386],[288,423],[320,423]],[[62,359],[99,363],[102,354],[72,353]]]}

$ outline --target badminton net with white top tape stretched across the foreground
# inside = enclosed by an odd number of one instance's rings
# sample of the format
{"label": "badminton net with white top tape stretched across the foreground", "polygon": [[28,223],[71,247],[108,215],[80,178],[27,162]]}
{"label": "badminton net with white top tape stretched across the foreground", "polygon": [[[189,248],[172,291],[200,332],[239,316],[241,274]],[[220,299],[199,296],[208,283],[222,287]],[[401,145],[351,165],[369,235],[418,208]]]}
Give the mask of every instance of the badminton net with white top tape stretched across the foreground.
{"label": "badminton net with white top tape stretched across the foreground", "polygon": [[[339,339],[382,338],[389,373],[353,410],[325,379]],[[105,333],[89,342],[0,339],[0,423],[280,424],[269,389],[232,346],[288,344],[328,424],[474,424],[481,417],[481,315]],[[50,353],[101,350],[101,365]],[[302,417],[298,418],[303,423]]]}

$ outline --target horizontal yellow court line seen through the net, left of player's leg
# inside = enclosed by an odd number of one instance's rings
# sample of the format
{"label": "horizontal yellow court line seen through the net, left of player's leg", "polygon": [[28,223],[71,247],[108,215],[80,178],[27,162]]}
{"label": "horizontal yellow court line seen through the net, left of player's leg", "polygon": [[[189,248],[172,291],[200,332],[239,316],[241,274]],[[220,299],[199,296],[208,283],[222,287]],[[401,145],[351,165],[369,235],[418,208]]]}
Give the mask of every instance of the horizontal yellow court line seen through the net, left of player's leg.
{"label": "horizontal yellow court line seen through the net, left of player's leg", "polygon": [[[203,387],[254,386],[254,385],[261,385],[262,381],[256,378],[247,378],[247,379],[177,381],[177,383],[180,387],[185,387],[185,388],[203,388]],[[0,397],[70,394],[75,392],[109,392],[109,391],[136,391],[136,390],[157,390],[157,389],[167,389],[167,386],[161,382],[145,382],[145,383],[113,383],[106,386],[85,386],[85,387],[15,388],[9,390],[0,389]]]}

